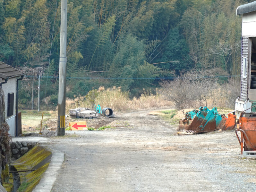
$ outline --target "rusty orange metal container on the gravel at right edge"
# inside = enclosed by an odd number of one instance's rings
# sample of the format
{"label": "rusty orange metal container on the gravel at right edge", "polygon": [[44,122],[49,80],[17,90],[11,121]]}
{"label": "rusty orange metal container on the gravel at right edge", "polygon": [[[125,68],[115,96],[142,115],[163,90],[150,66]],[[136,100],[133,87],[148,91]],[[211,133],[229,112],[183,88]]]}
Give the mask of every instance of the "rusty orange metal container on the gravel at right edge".
{"label": "rusty orange metal container on the gravel at right edge", "polygon": [[[239,136],[237,134],[238,131],[241,132],[241,140],[239,139]],[[235,134],[241,145],[241,154],[243,154],[243,151],[256,150],[256,113],[255,112],[245,113],[243,111],[241,113],[239,117],[239,128],[235,130]]]}

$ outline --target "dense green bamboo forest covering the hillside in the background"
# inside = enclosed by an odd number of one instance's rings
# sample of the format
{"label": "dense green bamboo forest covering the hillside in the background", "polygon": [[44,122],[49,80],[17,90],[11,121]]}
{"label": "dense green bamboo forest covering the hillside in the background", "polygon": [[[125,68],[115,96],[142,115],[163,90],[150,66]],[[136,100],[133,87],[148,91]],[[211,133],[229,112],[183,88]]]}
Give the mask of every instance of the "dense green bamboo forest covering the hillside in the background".
{"label": "dense green bamboo forest covering the hillside in the background", "polygon": [[[250,2],[69,0],[67,97],[114,85],[138,96],[183,69],[240,75],[241,16],[235,10]],[[25,71],[24,105],[38,75],[42,102],[57,101],[60,6],[60,0],[0,0],[0,60]]]}

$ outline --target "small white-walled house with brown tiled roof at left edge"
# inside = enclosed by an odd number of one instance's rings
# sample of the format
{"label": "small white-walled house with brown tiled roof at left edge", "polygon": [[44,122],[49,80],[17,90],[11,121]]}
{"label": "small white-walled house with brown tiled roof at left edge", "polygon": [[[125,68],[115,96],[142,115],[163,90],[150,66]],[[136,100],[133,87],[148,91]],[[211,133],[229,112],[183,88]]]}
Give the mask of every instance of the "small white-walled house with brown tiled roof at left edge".
{"label": "small white-walled house with brown tiled roof at left edge", "polygon": [[[0,86],[4,91],[5,104],[5,121],[10,126],[9,134],[17,136],[17,92],[18,81],[23,78],[24,74],[0,61]],[[17,125],[17,126],[16,126]]]}

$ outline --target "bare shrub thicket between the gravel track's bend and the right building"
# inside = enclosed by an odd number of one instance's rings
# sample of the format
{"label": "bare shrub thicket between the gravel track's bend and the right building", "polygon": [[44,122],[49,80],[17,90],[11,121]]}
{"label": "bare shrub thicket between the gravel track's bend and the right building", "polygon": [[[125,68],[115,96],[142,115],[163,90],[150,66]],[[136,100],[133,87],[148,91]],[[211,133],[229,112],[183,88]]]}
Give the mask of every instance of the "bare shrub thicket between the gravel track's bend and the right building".
{"label": "bare shrub thicket between the gravel track's bend and the right building", "polygon": [[227,79],[221,74],[221,69],[185,71],[172,81],[162,81],[159,93],[174,102],[178,110],[200,106],[234,108],[240,96],[240,78]]}

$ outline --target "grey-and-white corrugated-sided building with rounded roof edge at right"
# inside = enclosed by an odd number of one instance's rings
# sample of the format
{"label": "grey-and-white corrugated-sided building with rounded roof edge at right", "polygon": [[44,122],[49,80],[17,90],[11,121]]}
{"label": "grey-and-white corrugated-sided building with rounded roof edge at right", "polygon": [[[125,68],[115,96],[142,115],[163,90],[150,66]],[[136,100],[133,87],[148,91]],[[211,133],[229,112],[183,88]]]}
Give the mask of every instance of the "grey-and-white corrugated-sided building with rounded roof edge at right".
{"label": "grey-and-white corrugated-sided building with rounded roof edge at right", "polygon": [[243,111],[256,100],[256,1],[237,7],[236,15],[242,15],[241,95],[236,110]]}

